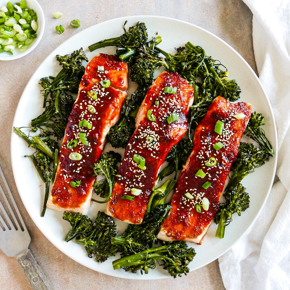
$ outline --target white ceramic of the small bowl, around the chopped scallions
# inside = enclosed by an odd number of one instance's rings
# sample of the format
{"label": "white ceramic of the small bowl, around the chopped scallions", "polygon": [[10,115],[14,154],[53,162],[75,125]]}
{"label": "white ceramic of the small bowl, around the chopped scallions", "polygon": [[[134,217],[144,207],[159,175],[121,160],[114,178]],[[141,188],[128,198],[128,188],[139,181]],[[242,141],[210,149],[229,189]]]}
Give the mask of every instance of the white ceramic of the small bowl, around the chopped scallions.
{"label": "white ceramic of the small bowl, around the chopped scallions", "polygon": [[[3,5],[6,6],[8,1],[9,0],[5,0],[5,1],[0,0],[0,8]],[[17,1],[10,0],[10,2],[14,5],[14,3]],[[20,2],[20,1],[18,1],[18,2]],[[0,53],[0,60],[12,60],[12,59],[17,59],[19,57],[23,57],[24,55],[27,55],[29,52],[31,52],[37,46],[37,44],[39,43],[39,41],[43,35],[45,19],[44,19],[44,13],[43,13],[39,3],[36,0],[26,0],[26,6],[30,9],[33,9],[36,12],[37,24],[38,24],[37,31],[36,31],[37,37],[33,41],[33,43],[29,46],[28,50],[23,51],[23,52],[19,52],[19,50],[16,48],[13,51],[13,55],[10,55],[8,52]]]}

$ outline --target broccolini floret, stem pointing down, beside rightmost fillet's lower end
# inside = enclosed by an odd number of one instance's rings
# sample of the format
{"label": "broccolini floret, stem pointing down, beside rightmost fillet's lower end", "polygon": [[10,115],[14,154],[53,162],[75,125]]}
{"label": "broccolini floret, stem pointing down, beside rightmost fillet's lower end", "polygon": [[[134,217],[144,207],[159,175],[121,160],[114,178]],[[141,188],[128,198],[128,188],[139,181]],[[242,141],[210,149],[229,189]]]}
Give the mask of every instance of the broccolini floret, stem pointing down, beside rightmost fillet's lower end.
{"label": "broccolini floret, stem pointing down, beside rightmost fillet's lower end", "polygon": [[217,238],[224,238],[225,227],[232,221],[233,213],[241,215],[241,211],[245,211],[249,207],[249,194],[245,190],[246,188],[238,183],[234,189],[224,193],[226,202],[218,206],[218,212],[214,217],[214,222],[218,224],[215,233]]}

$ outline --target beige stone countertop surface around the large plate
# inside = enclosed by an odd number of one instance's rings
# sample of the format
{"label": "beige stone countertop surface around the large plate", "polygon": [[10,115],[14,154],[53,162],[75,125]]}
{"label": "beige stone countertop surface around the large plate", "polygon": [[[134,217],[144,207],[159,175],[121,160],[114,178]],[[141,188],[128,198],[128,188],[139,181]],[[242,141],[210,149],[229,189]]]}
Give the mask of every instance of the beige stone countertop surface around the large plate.
{"label": "beige stone countertop surface around the large plate", "polygon": [[[14,3],[14,1],[12,1]],[[235,50],[256,71],[252,46],[252,14],[241,0],[38,0],[46,18],[44,35],[28,55],[0,61],[0,162],[23,220],[31,235],[30,249],[55,289],[224,289],[218,260],[182,278],[127,280],[88,269],[52,245],[32,222],[14,182],[10,159],[10,134],[14,113],[30,77],[42,61],[63,41],[96,23],[131,15],[159,15],[184,20],[209,30]],[[65,32],[58,35],[52,14],[60,11]],[[69,28],[73,19],[78,30]],[[0,289],[31,289],[16,258],[0,250]]]}

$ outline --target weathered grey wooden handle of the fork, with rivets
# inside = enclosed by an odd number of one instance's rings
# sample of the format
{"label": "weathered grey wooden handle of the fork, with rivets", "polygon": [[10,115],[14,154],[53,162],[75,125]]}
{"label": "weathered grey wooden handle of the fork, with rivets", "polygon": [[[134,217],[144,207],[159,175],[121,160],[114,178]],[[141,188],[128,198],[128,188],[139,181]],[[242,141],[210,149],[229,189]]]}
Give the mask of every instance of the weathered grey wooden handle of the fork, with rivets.
{"label": "weathered grey wooden handle of the fork, with rivets", "polygon": [[33,290],[53,290],[50,281],[46,278],[30,249],[18,255],[16,259]]}

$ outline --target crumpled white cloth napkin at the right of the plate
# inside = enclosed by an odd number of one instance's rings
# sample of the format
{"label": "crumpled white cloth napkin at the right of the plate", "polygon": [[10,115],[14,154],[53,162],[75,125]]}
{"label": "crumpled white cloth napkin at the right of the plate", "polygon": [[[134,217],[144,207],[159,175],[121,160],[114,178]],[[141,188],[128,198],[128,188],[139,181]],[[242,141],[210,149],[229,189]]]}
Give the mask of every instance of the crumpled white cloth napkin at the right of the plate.
{"label": "crumpled white cloth napkin at the right of the plate", "polygon": [[276,179],[252,228],[219,258],[227,290],[290,289],[290,1],[243,0],[253,13],[253,47],[278,129]]}

